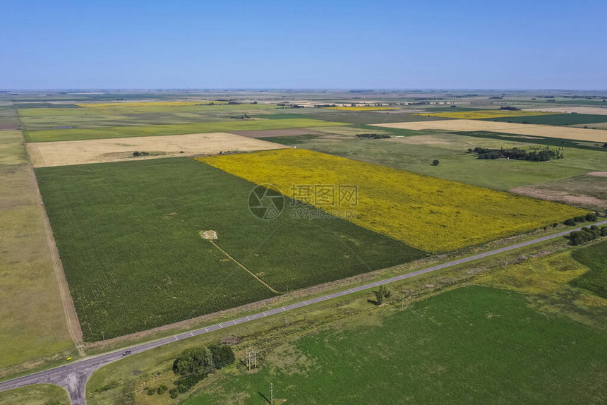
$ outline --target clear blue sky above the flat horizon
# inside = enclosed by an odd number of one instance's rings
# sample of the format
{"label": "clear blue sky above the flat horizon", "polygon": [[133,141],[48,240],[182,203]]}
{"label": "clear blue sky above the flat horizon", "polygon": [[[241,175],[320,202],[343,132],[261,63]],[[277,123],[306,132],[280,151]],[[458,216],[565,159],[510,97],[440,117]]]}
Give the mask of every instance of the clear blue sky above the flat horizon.
{"label": "clear blue sky above the flat horizon", "polygon": [[603,0],[1,1],[0,88],[606,90],[606,21]]}

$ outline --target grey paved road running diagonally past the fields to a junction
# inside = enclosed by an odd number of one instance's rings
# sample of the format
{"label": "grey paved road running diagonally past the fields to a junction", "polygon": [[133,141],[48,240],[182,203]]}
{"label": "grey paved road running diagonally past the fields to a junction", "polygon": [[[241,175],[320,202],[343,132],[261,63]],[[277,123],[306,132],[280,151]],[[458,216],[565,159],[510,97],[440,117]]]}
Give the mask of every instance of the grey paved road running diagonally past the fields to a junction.
{"label": "grey paved road running diagonally past the fields to a junction", "polygon": [[[599,226],[599,225],[605,225],[605,224],[607,224],[607,220],[597,222],[595,225]],[[535,243],[541,243],[543,241],[549,241],[551,239],[561,238],[563,236],[566,236],[567,234],[570,234],[572,231],[579,231],[579,229],[582,229],[582,228],[580,227],[580,228],[576,228],[576,229],[570,229],[569,231],[559,232],[558,234],[542,236],[541,238],[536,238],[531,241],[516,243],[515,245],[505,246],[504,248],[490,250],[488,252],[479,253],[477,255],[471,255],[471,256],[468,256],[467,258],[452,260],[450,262],[446,262],[446,263],[443,263],[440,265],[426,267],[424,269],[416,270],[414,272],[410,272],[407,274],[400,274],[395,277],[383,279],[378,282],[373,282],[373,283],[369,283],[369,284],[364,284],[362,286],[352,287],[351,289],[337,291],[335,293],[327,294],[325,296],[319,296],[316,298],[311,298],[306,301],[292,303],[291,305],[288,305],[288,306],[282,306],[280,308],[266,310],[266,311],[263,311],[260,313],[256,313],[254,315],[248,315],[243,318],[229,320],[227,322],[218,323],[218,324],[211,325],[208,327],[202,327],[197,330],[192,330],[191,332],[184,332],[182,334],[177,334],[172,337],[165,337],[164,339],[149,341],[148,343],[138,344],[136,346],[132,346],[132,347],[130,347],[128,349],[124,349],[124,350],[130,350],[133,354],[141,353],[143,351],[154,349],[155,347],[163,346],[164,344],[169,344],[174,341],[179,341],[179,340],[183,340],[183,339],[188,339],[189,337],[198,336],[199,334],[205,334],[208,332],[212,332],[214,330],[224,329],[227,327],[231,327],[232,325],[238,325],[238,324],[241,324],[244,322],[249,322],[251,320],[256,320],[259,318],[265,318],[270,315],[275,315],[277,313],[283,313],[288,310],[294,310],[296,308],[308,306],[313,303],[327,301],[332,298],[337,298],[340,296],[347,296],[348,294],[354,294],[359,291],[370,290],[370,289],[373,289],[373,288],[383,285],[383,284],[390,284],[392,282],[398,282],[400,280],[408,279],[410,277],[419,276],[420,274],[426,274],[429,272],[434,272],[436,270],[445,269],[447,267],[453,267],[456,265],[460,265],[462,263],[471,262],[473,260],[487,258],[489,256],[498,255],[499,253],[504,253],[504,252],[507,252],[510,250],[523,248],[525,246],[531,246],[531,245],[534,245]],[[117,360],[123,358],[122,353],[123,353],[123,351],[112,351],[110,353],[104,353],[104,354],[100,354],[98,356],[84,358],[83,360],[77,361],[75,363],[61,365],[60,367],[52,368],[50,370],[44,370],[44,371],[40,371],[39,373],[33,373],[30,375],[25,375],[23,377],[15,378],[13,380],[0,382],[0,391],[6,391],[7,389],[23,387],[25,385],[32,385],[32,384],[44,384],[44,383],[56,384],[56,385],[60,385],[61,387],[66,388],[68,390],[72,404],[75,404],[75,405],[76,404],[78,404],[78,405],[86,404],[86,399],[85,399],[86,382],[88,381],[88,378],[90,377],[90,375],[92,375],[92,373],[95,372],[95,370],[102,367],[103,365],[112,363],[113,361],[117,361]]]}

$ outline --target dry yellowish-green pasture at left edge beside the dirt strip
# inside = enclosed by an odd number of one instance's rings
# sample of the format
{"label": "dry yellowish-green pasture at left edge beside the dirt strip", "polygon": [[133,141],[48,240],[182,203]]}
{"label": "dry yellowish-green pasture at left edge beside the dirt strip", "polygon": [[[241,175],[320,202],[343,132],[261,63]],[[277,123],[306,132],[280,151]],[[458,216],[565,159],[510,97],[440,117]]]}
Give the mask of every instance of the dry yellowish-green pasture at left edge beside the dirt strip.
{"label": "dry yellowish-green pasture at left edge beside the dirt strip", "polygon": [[73,353],[74,345],[20,133],[0,131],[0,149],[1,378]]}

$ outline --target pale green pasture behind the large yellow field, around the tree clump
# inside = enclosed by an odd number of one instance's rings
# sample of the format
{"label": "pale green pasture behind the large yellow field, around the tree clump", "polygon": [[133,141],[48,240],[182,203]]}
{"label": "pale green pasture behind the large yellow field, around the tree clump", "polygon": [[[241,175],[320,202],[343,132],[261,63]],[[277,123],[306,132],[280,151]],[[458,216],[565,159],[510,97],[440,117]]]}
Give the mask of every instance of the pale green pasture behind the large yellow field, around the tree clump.
{"label": "pale green pasture behind the large yellow field, around the tree clump", "polygon": [[[536,139],[527,140],[520,135],[479,138],[453,133],[434,133],[373,140],[341,135],[342,130],[349,127],[335,128],[340,134],[327,133],[323,136],[293,136],[266,138],[266,140],[495,190],[509,190],[513,187],[547,182],[554,183],[554,188],[558,188],[560,181],[564,181],[563,187],[568,189],[567,184],[570,184],[568,178],[607,167],[607,153],[602,150],[565,147],[563,150],[565,158],[550,162],[485,160],[476,159],[476,155],[467,153],[469,148],[474,149],[477,146],[526,149],[536,146]],[[330,128],[327,128],[327,131],[330,131]],[[433,159],[439,159],[440,164],[433,166],[431,164]],[[600,192],[596,185],[602,184],[601,180],[595,181],[595,186],[591,184],[591,179],[584,181],[584,184],[590,186],[588,192],[592,190]]]}

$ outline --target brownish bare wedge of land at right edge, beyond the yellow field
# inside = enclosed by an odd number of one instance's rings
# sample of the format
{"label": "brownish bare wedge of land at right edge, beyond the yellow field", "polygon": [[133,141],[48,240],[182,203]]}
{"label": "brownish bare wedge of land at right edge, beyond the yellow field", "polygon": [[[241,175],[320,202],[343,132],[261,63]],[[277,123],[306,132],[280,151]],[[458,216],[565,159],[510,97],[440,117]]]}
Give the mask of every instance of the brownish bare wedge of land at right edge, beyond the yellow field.
{"label": "brownish bare wedge of land at right edge, beyond the yellow field", "polygon": [[607,172],[599,171],[558,181],[511,188],[512,193],[575,205],[587,210],[607,210]]}

